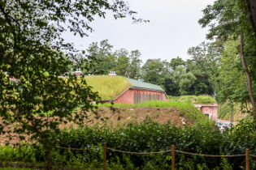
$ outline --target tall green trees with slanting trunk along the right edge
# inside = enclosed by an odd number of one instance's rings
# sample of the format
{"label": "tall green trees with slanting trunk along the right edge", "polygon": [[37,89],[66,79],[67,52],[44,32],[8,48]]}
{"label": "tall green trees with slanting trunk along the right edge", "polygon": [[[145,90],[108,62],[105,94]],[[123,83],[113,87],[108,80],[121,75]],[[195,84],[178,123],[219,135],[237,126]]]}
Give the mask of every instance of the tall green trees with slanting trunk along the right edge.
{"label": "tall green trees with slanting trunk along the right edge", "polygon": [[[202,19],[198,22],[202,27],[210,27],[207,38],[215,38],[215,42],[222,47],[223,53],[218,55],[222,64],[229,61],[228,65],[223,64],[216,71],[224,73],[221,77],[215,76],[215,84],[219,84],[219,87],[215,88],[218,100],[232,100],[243,104],[249,100],[256,121],[256,32],[249,18],[247,2],[216,0],[213,5],[206,6]],[[228,84],[231,87],[228,87]]]}

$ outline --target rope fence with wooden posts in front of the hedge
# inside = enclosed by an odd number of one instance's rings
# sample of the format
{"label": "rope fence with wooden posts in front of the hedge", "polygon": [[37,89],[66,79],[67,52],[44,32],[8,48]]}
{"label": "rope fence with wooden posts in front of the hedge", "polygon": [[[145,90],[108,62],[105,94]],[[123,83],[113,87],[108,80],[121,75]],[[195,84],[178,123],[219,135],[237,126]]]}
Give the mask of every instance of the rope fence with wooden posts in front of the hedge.
{"label": "rope fence with wooden posts in front of the hedge", "polygon": [[170,150],[166,151],[150,151],[150,152],[135,152],[135,151],[122,151],[117,150],[111,147],[106,147],[106,142],[103,143],[103,147],[89,147],[89,148],[72,148],[72,147],[57,147],[59,149],[66,149],[66,150],[75,150],[75,151],[86,151],[86,150],[103,150],[103,170],[106,170],[106,150],[115,151],[119,153],[126,153],[126,154],[134,154],[134,155],[154,155],[154,154],[161,154],[171,152],[171,170],[175,170],[175,153],[186,154],[186,155],[197,155],[197,156],[206,156],[206,157],[238,157],[238,156],[245,156],[245,170],[249,170],[249,156],[256,157],[256,155],[249,154],[249,149],[245,150],[245,154],[238,154],[238,155],[207,155],[207,154],[197,154],[191,153],[186,151],[179,151],[175,150],[175,146],[171,145]]}

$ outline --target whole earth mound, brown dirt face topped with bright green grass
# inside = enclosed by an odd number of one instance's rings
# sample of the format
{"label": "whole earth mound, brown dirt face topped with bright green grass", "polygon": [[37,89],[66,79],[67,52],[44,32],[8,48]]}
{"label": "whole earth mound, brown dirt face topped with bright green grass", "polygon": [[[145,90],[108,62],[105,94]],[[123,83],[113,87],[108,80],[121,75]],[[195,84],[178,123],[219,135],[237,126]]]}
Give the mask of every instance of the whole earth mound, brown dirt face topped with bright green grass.
{"label": "whole earth mound, brown dirt face topped with bright green grass", "polygon": [[210,121],[191,102],[176,100],[150,100],[139,104],[98,104],[98,118],[95,118],[93,113],[88,116],[86,125],[116,126],[151,120],[159,124],[182,126]]}

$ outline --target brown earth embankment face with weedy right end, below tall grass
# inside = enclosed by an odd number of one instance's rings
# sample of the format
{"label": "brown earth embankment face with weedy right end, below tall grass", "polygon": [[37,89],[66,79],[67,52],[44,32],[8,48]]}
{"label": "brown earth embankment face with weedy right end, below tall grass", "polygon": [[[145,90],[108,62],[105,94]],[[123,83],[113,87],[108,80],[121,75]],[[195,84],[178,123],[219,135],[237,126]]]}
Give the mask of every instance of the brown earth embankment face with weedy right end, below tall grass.
{"label": "brown earth embankment face with weedy right end, below tall grass", "polygon": [[196,108],[115,108],[113,112],[111,108],[102,107],[98,109],[98,117],[89,113],[86,125],[116,126],[151,120],[159,124],[182,126],[193,125],[204,118]]}

